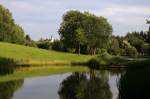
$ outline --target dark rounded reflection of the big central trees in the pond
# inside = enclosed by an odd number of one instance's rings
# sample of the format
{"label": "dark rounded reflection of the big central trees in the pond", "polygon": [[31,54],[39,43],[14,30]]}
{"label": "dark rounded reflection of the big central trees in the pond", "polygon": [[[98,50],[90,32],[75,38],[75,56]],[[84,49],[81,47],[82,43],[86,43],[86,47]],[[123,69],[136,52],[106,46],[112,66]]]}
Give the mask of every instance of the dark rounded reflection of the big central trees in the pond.
{"label": "dark rounded reflection of the big central trees in the pond", "polygon": [[60,99],[112,99],[108,76],[97,75],[93,70],[73,73],[60,85]]}

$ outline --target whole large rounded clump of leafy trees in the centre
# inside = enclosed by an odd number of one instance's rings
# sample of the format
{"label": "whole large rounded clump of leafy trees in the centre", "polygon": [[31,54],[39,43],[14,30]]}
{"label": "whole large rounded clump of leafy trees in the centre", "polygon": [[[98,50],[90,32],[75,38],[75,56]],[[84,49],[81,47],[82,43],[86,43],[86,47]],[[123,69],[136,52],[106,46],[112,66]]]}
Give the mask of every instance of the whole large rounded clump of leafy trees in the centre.
{"label": "whole large rounded clump of leafy trees in the centre", "polygon": [[112,26],[104,17],[98,17],[88,12],[69,11],[63,16],[59,34],[68,48],[78,48],[87,44],[90,53],[94,55],[97,48],[102,48],[109,40]]}

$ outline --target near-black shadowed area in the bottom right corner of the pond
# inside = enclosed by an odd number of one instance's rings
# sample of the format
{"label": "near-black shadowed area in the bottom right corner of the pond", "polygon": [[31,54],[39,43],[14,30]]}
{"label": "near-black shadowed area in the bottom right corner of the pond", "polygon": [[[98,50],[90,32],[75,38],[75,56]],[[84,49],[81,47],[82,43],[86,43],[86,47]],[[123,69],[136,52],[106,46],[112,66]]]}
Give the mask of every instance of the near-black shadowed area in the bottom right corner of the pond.
{"label": "near-black shadowed area in the bottom right corner of the pond", "polygon": [[150,67],[127,70],[119,81],[118,99],[150,98]]}

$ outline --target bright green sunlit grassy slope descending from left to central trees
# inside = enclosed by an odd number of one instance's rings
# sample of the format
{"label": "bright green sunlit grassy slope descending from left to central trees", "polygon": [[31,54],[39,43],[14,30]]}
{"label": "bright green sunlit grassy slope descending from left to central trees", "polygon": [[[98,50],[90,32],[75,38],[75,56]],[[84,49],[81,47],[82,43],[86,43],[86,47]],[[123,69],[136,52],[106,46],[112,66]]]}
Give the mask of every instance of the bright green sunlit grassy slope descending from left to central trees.
{"label": "bright green sunlit grassy slope descending from left to central trees", "polygon": [[16,44],[0,42],[0,57],[13,58],[23,61],[66,61],[66,62],[85,62],[91,56],[76,55],[64,52],[48,51],[33,47],[26,47]]}

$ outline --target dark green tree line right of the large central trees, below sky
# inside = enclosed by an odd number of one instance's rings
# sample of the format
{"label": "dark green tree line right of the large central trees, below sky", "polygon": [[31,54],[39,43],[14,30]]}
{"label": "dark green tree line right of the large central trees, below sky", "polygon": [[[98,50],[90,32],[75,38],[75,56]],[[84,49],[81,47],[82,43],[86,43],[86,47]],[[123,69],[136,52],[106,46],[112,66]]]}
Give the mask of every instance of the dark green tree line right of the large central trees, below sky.
{"label": "dark green tree line right of the large central trees, below sky", "polygon": [[113,36],[108,52],[112,55],[150,55],[150,30],[129,32],[124,37]]}

